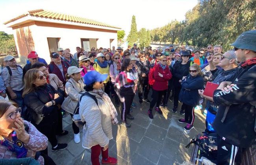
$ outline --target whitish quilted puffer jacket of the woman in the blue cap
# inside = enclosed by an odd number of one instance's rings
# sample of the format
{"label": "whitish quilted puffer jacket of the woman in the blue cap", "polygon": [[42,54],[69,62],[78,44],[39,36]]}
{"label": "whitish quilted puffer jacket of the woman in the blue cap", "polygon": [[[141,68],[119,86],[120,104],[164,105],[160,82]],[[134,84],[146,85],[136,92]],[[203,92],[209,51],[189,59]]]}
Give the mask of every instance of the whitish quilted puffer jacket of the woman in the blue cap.
{"label": "whitish quilted puffer jacket of the woman in the blue cap", "polygon": [[85,149],[90,149],[98,144],[105,147],[113,138],[108,103],[98,94],[89,93],[96,97],[98,105],[89,96],[83,96],[80,102],[80,118],[83,122],[86,121],[83,127],[82,146]]}

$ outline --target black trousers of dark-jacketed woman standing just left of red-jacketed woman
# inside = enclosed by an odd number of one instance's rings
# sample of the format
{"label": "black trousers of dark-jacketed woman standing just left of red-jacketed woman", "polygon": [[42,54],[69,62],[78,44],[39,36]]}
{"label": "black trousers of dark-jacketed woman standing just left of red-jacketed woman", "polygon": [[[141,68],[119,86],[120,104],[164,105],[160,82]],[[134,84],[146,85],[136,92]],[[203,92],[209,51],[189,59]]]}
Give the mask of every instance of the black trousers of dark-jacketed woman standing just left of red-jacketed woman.
{"label": "black trousers of dark-jacketed woman standing just left of red-jacketed woman", "polygon": [[[144,91],[144,97],[143,97],[143,91]],[[139,100],[142,100],[142,98],[147,99],[148,98],[148,91],[149,91],[149,86],[148,86],[148,78],[141,78],[139,77],[139,82],[138,82],[138,96]]]}

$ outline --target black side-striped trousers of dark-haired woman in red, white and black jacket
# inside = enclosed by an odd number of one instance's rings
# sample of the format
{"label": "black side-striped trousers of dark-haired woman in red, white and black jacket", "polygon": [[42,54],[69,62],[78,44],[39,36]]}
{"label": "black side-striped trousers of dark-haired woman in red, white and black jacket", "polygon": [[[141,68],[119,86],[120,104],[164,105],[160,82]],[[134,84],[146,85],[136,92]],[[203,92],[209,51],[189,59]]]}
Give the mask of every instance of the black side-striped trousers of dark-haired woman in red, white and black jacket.
{"label": "black side-striped trousers of dark-haired woman in red, white and black jacket", "polygon": [[130,114],[130,109],[132,105],[132,101],[134,100],[135,94],[129,94],[122,97],[122,112],[121,112],[121,119],[122,121],[126,121],[126,115]]}

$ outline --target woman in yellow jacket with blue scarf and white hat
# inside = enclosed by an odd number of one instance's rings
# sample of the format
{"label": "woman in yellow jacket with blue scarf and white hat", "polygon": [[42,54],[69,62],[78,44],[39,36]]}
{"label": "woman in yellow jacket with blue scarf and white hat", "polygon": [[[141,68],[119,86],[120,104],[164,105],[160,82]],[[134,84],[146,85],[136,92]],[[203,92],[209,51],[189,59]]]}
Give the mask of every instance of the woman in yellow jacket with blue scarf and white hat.
{"label": "woman in yellow jacket with blue scarf and white hat", "polygon": [[104,83],[104,92],[109,95],[110,93],[110,82],[109,82],[109,65],[108,62],[105,60],[105,56],[102,53],[98,53],[97,61],[93,65],[95,71],[99,72],[100,74],[108,74],[107,79],[103,82]]}

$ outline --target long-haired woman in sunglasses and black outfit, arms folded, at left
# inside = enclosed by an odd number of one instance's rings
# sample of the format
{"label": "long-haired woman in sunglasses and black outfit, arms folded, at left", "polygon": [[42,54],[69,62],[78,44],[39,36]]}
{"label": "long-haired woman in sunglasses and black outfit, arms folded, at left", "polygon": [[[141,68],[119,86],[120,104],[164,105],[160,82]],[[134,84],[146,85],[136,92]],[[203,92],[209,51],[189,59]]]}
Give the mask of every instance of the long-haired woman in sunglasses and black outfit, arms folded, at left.
{"label": "long-haired woman in sunglasses and black outfit, arms folded, at left", "polygon": [[[42,132],[52,145],[52,152],[63,150],[68,144],[58,143],[56,134],[58,127],[58,104],[62,104],[64,96],[48,85],[45,74],[38,69],[30,69],[24,76],[22,94],[31,123]],[[48,154],[48,150],[44,150]]]}

